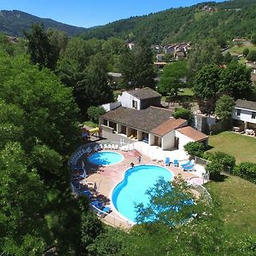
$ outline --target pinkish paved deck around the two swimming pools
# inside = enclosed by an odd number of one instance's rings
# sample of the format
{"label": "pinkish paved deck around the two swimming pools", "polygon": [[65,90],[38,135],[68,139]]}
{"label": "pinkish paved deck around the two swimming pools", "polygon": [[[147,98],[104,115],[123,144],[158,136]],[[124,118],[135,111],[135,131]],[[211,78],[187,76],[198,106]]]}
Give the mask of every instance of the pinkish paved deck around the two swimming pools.
{"label": "pinkish paved deck around the two swimming pools", "polygon": [[[133,162],[135,166],[139,164],[137,157],[142,154],[140,154],[137,150],[128,152],[120,150],[111,151],[123,154],[124,160],[115,165],[95,166],[90,164],[90,162],[88,162],[84,156],[81,157],[81,160],[84,160],[85,169],[88,174],[88,177],[85,180],[81,181],[81,183],[87,185],[91,191],[94,191],[94,189],[96,189],[96,193],[94,196],[104,201],[106,205],[110,205],[111,209],[113,210],[113,212],[109,213],[105,218],[102,218],[103,222],[106,222],[107,224],[113,225],[115,227],[120,227],[122,229],[129,229],[131,228],[131,223],[125,220],[125,218],[122,218],[122,216],[119,215],[119,212],[115,211],[110,201],[110,194],[112,189],[119,182],[122,181],[124,177],[124,172],[131,167],[131,162]],[[163,166],[166,167],[166,169],[172,171],[174,176],[181,174],[181,176],[185,180],[189,180],[192,177],[196,177],[195,174],[193,174],[193,172],[183,172],[181,168],[173,166],[172,164],[171,166],[165,166],[164,161],[157,162],[151,160],[149,157],[145,155],[142,155],[140,165]]]}

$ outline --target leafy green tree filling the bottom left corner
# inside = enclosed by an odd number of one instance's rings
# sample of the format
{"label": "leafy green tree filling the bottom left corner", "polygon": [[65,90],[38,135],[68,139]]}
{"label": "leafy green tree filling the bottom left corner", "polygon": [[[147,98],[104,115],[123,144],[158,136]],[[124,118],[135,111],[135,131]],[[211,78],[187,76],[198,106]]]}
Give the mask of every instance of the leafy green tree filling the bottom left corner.
{"label": "leafy green tree filling the bottom left corner", "polygon": [[0,155],[0,250],[15,255],[42,254],[49,232],[44,218],[44,184],[28,166],[19,143],[7,143]]}

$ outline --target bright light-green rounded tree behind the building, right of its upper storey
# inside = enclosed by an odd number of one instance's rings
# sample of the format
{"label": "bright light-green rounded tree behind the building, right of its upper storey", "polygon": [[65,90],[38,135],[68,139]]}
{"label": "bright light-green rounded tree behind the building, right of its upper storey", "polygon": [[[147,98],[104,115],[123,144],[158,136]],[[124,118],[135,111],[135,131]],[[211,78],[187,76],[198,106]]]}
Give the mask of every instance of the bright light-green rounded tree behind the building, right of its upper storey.
{"label": "bright light-green rounded tree behind the building, right of its upper storey", "polygon": [[162,95],[177,96],[179,88],[183,87],[181,79],[187,75],[187,62],[176,61],[169,65],[166,65],[163,70],[163,74],[160,78],[160,83],[157,85],[157,90]]}

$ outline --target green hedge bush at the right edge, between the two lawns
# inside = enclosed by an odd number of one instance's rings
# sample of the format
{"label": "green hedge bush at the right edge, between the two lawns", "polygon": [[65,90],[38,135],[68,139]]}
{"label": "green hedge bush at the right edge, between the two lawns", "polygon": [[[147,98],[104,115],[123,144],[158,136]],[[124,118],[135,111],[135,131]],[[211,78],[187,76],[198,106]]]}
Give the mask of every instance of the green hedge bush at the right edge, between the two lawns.
{"label": "green hedge bush at the right edge, between the two lawns", "polygon": [[256,183],[256,164],[242,162],[234,168],[234,174]]}

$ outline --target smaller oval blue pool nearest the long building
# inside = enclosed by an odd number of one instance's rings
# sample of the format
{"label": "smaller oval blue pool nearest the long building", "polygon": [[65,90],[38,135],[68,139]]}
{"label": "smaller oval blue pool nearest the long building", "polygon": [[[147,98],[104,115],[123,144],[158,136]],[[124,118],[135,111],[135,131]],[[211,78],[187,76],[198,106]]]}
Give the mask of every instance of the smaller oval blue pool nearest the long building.
{"label": "smaller oval blue pool nearest the long building", "polygon": [[96,166],[109,166],[118,164],[124,160],[124,156],[116,152],[102,151],[91,154],[88,160]]}

